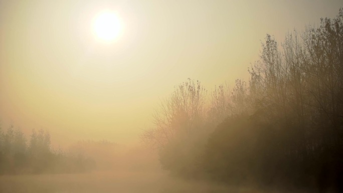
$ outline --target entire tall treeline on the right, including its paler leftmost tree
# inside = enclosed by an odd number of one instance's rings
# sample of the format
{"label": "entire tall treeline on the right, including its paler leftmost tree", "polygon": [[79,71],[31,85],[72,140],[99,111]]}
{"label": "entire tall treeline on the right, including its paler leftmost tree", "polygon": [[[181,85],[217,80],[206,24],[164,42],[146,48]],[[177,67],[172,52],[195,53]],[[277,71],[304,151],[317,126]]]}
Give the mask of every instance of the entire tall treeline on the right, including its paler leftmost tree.
{"label": "entire tall treeline on the right, including its paler leftmost tree", "polygon": [[342,192],[343,9],[281,45],[267,35],[249,73],[210,97],[189,80],[161,101],[142,139],[163,168],[235,185]]}

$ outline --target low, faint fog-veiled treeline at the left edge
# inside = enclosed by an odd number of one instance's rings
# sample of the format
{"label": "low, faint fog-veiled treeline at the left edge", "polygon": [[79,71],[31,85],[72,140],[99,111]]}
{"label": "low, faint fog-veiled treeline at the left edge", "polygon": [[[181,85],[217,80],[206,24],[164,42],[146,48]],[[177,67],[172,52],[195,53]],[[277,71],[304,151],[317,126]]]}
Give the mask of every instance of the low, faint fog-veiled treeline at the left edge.
{"label": "low, faint fog-veiled treeline at the left edge", "polygon": [[33,130],[27,138],[13,126],[0,128],[0,174],[72,173],[94,167],[94,160],[81,153],[54,150],[47,131]]}

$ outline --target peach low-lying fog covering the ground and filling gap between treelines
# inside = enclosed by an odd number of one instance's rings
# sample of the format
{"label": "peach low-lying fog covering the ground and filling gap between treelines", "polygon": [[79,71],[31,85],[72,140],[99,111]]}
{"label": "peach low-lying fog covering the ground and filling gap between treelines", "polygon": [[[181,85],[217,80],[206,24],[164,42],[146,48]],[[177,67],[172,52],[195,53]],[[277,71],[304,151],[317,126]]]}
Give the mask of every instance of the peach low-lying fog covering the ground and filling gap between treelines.
{"label": "peach low-lying fog covering the ground and filling gap between treelines", "polygon": [[[75,151],[79,144],[70,149]],[[99,152],[99,149],[95,150],[96,152],[83,152],[85,156],[97,155],[96,169],[93,171],[71,174],[0,175],[0,192],[228,192],[228,188],[223,185],[183,180],[169,175],[160,168],[155,152],[142,147],[123,147],[116,144],[114,146],[116,148],[104,152]]]}

